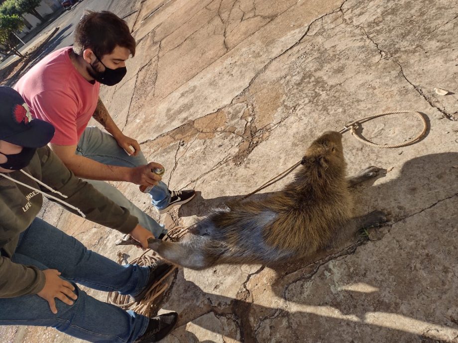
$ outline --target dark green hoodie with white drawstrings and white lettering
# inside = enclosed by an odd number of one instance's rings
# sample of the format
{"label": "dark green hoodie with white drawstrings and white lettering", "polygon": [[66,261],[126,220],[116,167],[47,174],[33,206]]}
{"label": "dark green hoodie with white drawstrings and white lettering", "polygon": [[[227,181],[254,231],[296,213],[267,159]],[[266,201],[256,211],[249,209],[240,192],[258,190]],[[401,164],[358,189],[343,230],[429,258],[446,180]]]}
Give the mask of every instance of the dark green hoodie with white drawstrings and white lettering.
{"label": "dark green hoodie with white drawstrings and white lettering", "polygon": [[30,164],[22,171],[0,174],[0,298],[36,294],[45,283],[44,273],[37,267],[11,261],[19,234],[35,219],[43,204],[43,196],[5,176],[61,199],[69,211],[84,213],[87,219],[122,233],[131,232],[138,224],[138,219],[127,209],[76,177],[47,146],[37,149]]}

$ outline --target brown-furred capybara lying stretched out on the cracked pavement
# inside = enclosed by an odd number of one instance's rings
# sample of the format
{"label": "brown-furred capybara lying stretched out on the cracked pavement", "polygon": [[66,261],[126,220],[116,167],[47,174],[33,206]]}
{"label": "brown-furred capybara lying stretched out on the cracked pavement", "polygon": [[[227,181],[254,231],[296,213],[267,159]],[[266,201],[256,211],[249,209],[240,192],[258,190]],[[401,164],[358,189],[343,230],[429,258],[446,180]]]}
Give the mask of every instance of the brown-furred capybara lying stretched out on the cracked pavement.
{"label": "brown-furred capybara lying stretched out on the cracked pavement", "polygon": [[[357,181],[346,178],[342,135],[327,131],[307,149],[294,180],[260,201],[244,201],[216,210],[189,229],[181,242],[149,240],[166,260],[191,269],[221,263],[272,264],[306,257],[339,238],[351,222],[349,184],[372,177],[371,167]],[[383,221],[378,212],[370,225]]]}

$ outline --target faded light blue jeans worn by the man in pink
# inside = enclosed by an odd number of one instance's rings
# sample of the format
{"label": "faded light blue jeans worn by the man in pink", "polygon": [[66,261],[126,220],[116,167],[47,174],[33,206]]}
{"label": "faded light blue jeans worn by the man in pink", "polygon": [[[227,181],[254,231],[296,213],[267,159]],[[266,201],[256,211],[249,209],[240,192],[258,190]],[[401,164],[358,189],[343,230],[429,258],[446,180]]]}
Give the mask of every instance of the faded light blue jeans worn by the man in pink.
{"label": "faded light blue jeans worn by the man in pink", "polygon": [[[112,135],[102,132],[97,127],[87,127],[81,135],[76,154],[87,157],[91,160],[118,167],[139,167],[148,164],[143,154],[129,156],[117,145]],[[114,201],[119,206],[125,207],[129,212],[138,218],[141,226],[153,233],[157,238],[161,233],[167,232],[163,225],[159,225],[153,218],[148,216],[131,201],[129,201],[119,190],[110,183],[100,180],[85,180],[91,183],[94,188]],[[149,192],[151,203],[159,210],[167,207],[170,203],[170,192],[167,185],[159,181]]]}

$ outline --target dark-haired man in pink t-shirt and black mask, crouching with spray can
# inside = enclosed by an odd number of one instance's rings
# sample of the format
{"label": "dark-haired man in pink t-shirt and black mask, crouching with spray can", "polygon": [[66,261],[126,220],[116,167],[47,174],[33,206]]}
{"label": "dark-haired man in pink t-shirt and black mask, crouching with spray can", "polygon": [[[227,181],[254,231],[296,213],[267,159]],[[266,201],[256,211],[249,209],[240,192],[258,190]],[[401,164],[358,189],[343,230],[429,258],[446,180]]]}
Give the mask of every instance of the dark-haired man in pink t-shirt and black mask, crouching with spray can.
{"label": "dark-haired man in pink t-shirt and black mask, crouching with spray can", "polygon": [[[86,11],[74,32],[74,46],[46,56],[14,86],[36,118],[54,125],[50,146],[77,176],[127,208],[155,237],[166,230],[105,182],[128,181],[149,186],[152,204],[164,213],[184,204],[194,190],[170,191],[152,170],[138,142],[125,136],[99,97],[100,84],[113,86],[126,73],[125,61],[135,54],[135,40],[122,19],[111,12]],[[106,131],[87,127],[91,117]],[[152,187],[152,188],[151,188]]]}

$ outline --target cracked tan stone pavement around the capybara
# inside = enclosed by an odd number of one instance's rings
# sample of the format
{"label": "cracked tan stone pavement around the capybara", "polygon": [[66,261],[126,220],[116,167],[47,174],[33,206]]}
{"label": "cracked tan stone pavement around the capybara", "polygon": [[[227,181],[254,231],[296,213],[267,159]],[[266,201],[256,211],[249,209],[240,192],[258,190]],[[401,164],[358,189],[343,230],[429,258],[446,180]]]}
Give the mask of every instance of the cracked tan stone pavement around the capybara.
{"label": "cracked tan stone pavement around the capybara", "polygon": [[[116,182],[168,228],[247,194],[345,122],[398,109],[429,122],[426,138],[398,149],[344,135],[349,174],[387,170],[354,189],[355,214],[383,209],[387,225],[278,268],[180,269],[161,309],[180,319],[163,342],[458,342],[457,8],[456,0],[136,2],[126,20],[137,54],[101,96],[148,160],[165,166],[171,189],[199,191],[159,216],[136,186]],[[363,124],[366,138],[383,143],[420,131],[405,115]],[[58,206],[42,216],[108,257],[139,255]],[[2,341],[81,342],[13,329]]]}

